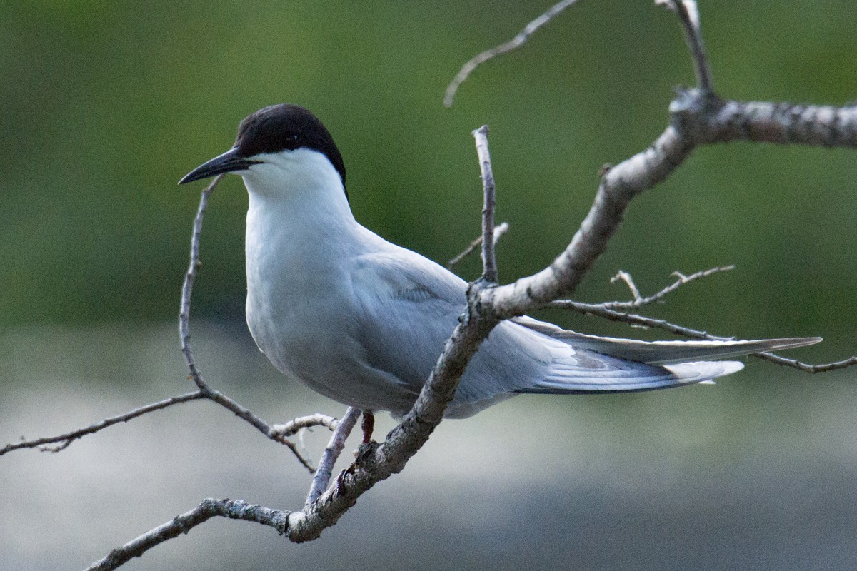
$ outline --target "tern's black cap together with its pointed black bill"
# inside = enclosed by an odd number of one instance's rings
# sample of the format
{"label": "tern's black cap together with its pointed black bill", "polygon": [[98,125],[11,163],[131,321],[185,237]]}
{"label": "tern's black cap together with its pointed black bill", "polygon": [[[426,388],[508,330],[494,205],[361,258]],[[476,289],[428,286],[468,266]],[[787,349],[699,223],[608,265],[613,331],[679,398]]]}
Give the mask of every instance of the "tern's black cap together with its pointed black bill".
{"label": "tern's black cap together with its pointed black bill", "polygon": [[345,164],[333,137],[309,110],[291,104],[271,105],[246,116],[238,126],[235,146],[191,171],[179,184],[245,170],[255,164],[250,158],[263,152],[293,151],[301,147],[327,157],[345,187]]}

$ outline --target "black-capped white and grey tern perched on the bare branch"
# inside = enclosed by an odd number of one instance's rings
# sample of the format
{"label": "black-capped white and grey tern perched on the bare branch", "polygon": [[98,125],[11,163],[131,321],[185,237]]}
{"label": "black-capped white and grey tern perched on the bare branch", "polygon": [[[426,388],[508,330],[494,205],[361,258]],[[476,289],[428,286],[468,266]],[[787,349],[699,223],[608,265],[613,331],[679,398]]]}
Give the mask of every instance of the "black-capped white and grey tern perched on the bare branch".
{"label": "black-capped white and grey tern perched on the bare branch", "polygon": [[[276,104],[245,117],[234,145],[179,184],[225,173],[240,175],[249,193],[246,317],[261,352],[286,377],[364,418],[404,416],[464,312],[468,284],[357,222],[342,155],[303,107]],[[820,341],[644,342],[521,316],[494,327],[445,417],[466,418],[525,393],[710,384],[743,368],[724,359]]]}

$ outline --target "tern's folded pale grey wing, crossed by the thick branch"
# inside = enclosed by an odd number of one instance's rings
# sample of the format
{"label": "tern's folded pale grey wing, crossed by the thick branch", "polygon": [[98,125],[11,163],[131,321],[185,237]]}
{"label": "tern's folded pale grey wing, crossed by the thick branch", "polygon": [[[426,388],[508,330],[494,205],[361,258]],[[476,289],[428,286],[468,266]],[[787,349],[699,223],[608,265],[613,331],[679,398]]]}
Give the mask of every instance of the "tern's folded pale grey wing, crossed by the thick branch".
{"label": "tern's folded pale grey wing, crossed by the thick branch", "polygon": [[[466,283],[404,248],[359,256],[352,272],[367,365],[416,392],[464,311]],[[521,392],[615,392],[697,383],[735,372],[740,363],[654,366],[578,348],[560,328],[535,319],[506,321],[482,343],[449,413],[467,416]]]}

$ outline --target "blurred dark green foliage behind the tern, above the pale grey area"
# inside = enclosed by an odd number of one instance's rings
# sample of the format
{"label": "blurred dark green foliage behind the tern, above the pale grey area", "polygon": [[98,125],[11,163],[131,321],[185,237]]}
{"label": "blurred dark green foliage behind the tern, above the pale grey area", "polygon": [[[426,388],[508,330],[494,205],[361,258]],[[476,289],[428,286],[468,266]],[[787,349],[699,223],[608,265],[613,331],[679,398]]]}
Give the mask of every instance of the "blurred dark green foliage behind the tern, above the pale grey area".
{"label": "blurred dark green foliage behind the tern, above the pale grey area", "polygon": [[[279,102],[327,123],[359,220],[440,261],[478,234],[470,130],[487,122],[498,217],[512,225],[501,277],[542,268],[588,210],[599,167],[648,146],[672,86],[692,82],[674,15],[582,2],[442,107],[465,60],[548,5],[0,0],[0,323],[174,318],[198,199],[176,181],[225,151],[243,116]],[[724,97],[855,98],[851,3],[700,8]],[[632,204],[578,298],[626,297],[608,283],[619,268],[650,293],[671,271],[734,264],[656,312],[722,334],[825,335],[818,354],[844,356],[857,321],[855,190],[854,151],[699,149]],[[196,316],[243,318],[245,207],[230,177],[207,217]]]}

